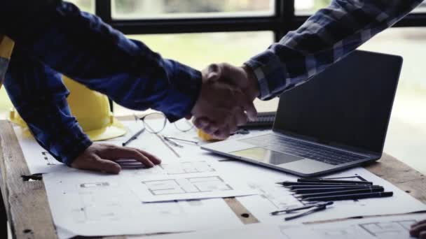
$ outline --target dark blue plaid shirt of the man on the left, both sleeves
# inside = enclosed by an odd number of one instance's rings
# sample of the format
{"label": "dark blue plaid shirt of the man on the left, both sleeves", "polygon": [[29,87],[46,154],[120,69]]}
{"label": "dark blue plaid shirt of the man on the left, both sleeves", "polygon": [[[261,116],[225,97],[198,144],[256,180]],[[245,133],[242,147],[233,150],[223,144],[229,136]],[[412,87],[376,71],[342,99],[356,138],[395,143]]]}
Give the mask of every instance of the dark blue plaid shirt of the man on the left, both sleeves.
{"label": "dark blue plaid shirt of the man on the left, both sleeves", "polygon": [[11,62],[8,94],[36,140],[65,164],[91,142],[69,113],[59,73],[127,108],[162,111],[172,122],[189,115],[198,99],[199,71],[164,59],[71,3],[58,1],[29,19],[5,14],[15,24],[1,25],[2,31],[25,55]]}

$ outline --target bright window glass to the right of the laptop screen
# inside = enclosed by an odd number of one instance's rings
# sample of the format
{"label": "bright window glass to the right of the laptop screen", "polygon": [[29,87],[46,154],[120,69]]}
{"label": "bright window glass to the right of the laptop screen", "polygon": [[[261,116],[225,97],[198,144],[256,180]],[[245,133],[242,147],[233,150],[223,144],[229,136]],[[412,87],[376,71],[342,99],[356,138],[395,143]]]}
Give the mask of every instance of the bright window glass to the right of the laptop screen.
{"label": "bright window glass to the right of the laptop screen", "polygon": [[426,29],[387,29],[361,49],[404,57],[385,152],[413,168],[425,169],[426,75],[423,57],[426,55]]}

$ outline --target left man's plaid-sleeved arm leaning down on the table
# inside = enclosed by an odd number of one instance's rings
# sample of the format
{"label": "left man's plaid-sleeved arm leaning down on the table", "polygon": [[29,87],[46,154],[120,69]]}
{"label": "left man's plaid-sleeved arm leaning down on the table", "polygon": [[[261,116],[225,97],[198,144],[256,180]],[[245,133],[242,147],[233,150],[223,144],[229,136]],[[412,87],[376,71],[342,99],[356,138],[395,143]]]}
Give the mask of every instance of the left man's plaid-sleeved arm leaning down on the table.
{"label": "left man's plaid-sleeved arm leaning down on the table", "polygon": [[15,48],[4,86],[34,138],[58,161],[70,165],[92,144],[71,115],[59,73]]}

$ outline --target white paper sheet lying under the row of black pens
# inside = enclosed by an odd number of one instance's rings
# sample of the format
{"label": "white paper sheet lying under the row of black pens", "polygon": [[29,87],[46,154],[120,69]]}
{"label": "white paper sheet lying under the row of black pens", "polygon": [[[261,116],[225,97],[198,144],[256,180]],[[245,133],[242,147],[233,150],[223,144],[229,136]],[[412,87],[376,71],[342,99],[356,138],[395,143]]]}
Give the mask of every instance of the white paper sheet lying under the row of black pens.
{"label": "white paper sheet lying under the row of black pens", "polygon": [[[245,205],[247,210],[264,223],[280,224],[286,215],[271,216],[270,212],[287,208],[287,206],[301,205],[291,192],[275,182],[296,181],[298,177],[275,171],[269,168],[246,164],[240,161],[223,161],[217,165],[224,173],[238,171],[241,180],[245,180],[252,188],[257,188],[260,195],[245,196],[238,201]],[[294,219],[292,222],[312,222],[317,220],[340,219],[368,215],[389,215],[426,210],[426,205],[413,198],[405,191],[398,189],[390,182],[379,178],[364,168],[353,168],[348,171],[327,175],[329,178],[361,175],[374,184],[381,185],[385,191],[393,191],[394,196],[389,198],[369,198],[359,201],[336,201],[322,212]],[[401,206],[395,206],[401,205]]]}

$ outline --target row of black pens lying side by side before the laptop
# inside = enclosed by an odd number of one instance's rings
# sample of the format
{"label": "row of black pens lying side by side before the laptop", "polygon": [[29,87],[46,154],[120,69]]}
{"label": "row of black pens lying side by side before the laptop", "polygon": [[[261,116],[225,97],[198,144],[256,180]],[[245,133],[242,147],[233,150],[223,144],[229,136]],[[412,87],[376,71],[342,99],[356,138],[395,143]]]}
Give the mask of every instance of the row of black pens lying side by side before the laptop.
{"label": "row of black pens lying side by side before the laptop", "polygon": [[393,196],[382,186],[368,181],[300,178],[297,182],[278,182],[301,201],[342,201]]}

